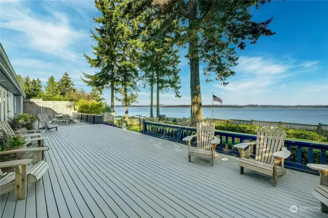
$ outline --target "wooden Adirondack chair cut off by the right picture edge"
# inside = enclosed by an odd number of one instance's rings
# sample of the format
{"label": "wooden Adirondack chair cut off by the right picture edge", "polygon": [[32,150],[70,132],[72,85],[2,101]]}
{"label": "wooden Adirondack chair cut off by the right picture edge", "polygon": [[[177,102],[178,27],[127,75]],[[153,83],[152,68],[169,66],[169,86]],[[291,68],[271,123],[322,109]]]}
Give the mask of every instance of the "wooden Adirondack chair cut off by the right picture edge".
{"label": "wooden Adirondack chair cut off by the right picture edge", "polygon": [[313,188],[312,194],[320,201],[321,212],[328,213],[328,165],[306,164],[320,173],[320,184]]}

